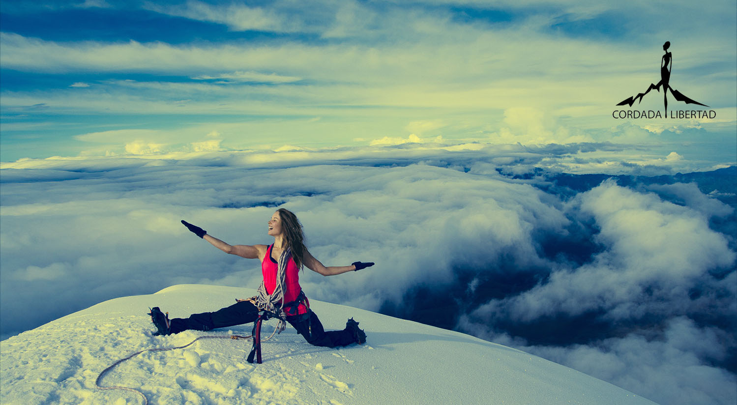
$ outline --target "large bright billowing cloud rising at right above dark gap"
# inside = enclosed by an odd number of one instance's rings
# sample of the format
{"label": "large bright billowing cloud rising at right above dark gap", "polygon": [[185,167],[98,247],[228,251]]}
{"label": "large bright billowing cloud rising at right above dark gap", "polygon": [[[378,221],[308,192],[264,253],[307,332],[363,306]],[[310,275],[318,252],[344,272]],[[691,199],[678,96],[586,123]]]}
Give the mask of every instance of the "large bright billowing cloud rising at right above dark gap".
{"label": "large bright billowing cloud rising at right above dark gap", "polygon": [[608,182],[581,194],[577,203],[600,228],[595,239],[604,244],[604,252],[590,264],[553,272],[523,294],[492,300],[478,309],[479,316],[504,314],[530,322],[553,314],[604,311],[612,320],[638,319],[674,310],[663,303],[692,305],[689,291],[708,272],[735,262],[727,239],[710,230],[707,217],[655,194]]}

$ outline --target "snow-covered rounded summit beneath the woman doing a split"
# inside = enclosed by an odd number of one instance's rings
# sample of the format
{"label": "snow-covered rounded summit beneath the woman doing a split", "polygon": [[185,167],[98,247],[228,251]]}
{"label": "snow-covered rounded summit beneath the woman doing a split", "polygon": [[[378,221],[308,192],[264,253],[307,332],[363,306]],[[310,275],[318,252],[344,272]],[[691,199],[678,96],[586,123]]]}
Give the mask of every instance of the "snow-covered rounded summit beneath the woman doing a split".
{"label": "snow-covered rounded summit beneath the woman doing a split", "polygon": [[[251,333],[252,324],[153,337],[146,313],[214,311],[256,290],[184,284],[120,297],[0,342],[2,404],[141,404],[135,392],[97,390],[105,367],[136,351],[186,345],[196,337]],[[310,300],[326,330],[355,317],[365,345],[318,348],[293,328],[262,344],[203,339],[148,351],[105,374],[103,387],[144,392],[150,404],[654,404],[537,356],[467,334],[362,309]],[[49,297],[53,305],[53,297]],[[265,323],[268,337],[276,321]]]}

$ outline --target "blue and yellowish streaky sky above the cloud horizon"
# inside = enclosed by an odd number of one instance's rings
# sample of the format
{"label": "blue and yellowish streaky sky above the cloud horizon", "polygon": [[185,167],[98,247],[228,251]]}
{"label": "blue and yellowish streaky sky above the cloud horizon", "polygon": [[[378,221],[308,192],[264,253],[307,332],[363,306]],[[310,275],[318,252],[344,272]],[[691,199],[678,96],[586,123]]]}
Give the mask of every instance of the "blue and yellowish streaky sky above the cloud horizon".
{"label": "blue and yellowish streaky sky above the cloud horizon", "polygon": [[[0,161],[626,142],[710,169],[737,160],[736,14],[733,1],[3,1]],[[671,85],[716,119],[613,119],[659,80],[665,40]]]}

